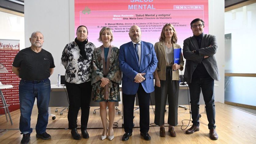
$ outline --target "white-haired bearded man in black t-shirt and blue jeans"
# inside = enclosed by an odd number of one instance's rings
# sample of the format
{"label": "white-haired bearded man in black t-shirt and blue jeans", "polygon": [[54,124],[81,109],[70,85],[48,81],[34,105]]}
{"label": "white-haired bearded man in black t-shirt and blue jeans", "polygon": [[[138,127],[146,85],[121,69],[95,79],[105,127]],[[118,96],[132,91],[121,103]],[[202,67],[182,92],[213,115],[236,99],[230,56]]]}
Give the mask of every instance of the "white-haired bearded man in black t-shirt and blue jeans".
{"label": "white-haired bearded man in black t-shirt and blue jeans", "polygon": [[38,117],[36,123],[36,137],[50,139],[46,133],[48,124],[48,106],[50,100],[50,75],[55,67],[52,54],[42,49],[44,36],[41,32],[33,32],[31,47],[18,52],[13,61],[13,73],[21,81],[19,83],[20,100],[20,131],[23,134],[21,143],[29,143],[32,128],[30,127],[31,113],[36,99]]}

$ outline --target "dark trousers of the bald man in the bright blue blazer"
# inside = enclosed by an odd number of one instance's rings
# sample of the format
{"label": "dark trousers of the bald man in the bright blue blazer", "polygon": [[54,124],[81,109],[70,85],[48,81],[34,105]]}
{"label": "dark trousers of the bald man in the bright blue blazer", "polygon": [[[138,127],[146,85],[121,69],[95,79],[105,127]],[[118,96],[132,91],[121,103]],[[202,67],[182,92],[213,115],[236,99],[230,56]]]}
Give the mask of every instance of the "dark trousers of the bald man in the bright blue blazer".
{"label": "dark trousers of the bald man in the bright blue blazer", "polygon": [[[139,100],[139,127],[140,132],[148,132],[149,130],[149,99],[150,93],[146,93],[142,85],[139,84],[137,91]],[[133,110],[134,110],[134,95],[128,95],[123,93],[123,105],[124,105],[124,131],[132,133],[133,127]]]}

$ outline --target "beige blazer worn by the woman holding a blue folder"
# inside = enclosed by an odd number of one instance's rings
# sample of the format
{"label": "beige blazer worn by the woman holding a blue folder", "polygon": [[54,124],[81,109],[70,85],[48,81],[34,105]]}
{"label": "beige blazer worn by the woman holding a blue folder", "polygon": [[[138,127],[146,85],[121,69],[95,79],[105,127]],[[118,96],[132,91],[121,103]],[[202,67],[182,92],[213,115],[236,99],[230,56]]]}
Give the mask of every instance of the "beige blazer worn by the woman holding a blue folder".
{"label": "beige blazer worn by the woman holding a blue folder", "polygon": [[[173,44],[174,49],[177,49],[180,47],[181,46],[178,44]],[[157,72],[160,80],[166,80],[166,53],[165,53],[164,41],[159,41],[155,43],[154,48],[155,48],[155,53],[158,60],[158,64],[155,72]],[[180,65],[181,65],[180,70],[183,70],[184,61],[183,61],[182,54],[180,58]],[[180,80],[179,78],[180,78],[179,71],[178,70],[172,71],[172,80],[179,81]]]}

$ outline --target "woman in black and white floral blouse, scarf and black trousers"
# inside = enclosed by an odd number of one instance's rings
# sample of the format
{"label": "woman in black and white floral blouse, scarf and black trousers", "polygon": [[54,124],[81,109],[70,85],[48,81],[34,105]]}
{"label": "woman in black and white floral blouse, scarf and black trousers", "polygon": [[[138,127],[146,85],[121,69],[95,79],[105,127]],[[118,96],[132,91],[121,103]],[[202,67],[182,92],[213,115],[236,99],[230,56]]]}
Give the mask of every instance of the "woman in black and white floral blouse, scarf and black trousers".
{"label": "woman in black and white floral blouse, scarf and black trousers", "polygon": [[81,139],[77,132],[77,115],[81,108],[81,131],[83,138],[89,138],[86,131],[91,101],[91,64],[95,45],[88,41],[86,26],[80,25],[75,41],[66,45],[62,52],[62,64],[66,69],[65,81],[69,99],[68,128],[74,139]]}

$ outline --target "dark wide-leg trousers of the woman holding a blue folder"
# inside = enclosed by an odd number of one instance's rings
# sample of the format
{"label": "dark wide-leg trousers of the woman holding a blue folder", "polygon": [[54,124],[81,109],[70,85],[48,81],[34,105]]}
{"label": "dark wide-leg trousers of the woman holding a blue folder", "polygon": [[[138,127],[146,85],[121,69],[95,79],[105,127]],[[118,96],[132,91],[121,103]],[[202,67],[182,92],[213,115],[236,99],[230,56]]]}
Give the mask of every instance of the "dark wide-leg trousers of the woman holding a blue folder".
{"label": "dark wide-leg trousers of the woman holding a blue folder", "polygon": [[161,126],[164,124],[164,114],[166,99],[168,96],[168,124],[176,126],[178,124],[178,99],[179,99],[179,81],[172,80],[172,71],[166,70],[166,80],[160,80],[160,87],[155,86],[155,121]]}

